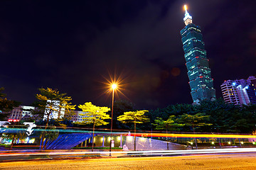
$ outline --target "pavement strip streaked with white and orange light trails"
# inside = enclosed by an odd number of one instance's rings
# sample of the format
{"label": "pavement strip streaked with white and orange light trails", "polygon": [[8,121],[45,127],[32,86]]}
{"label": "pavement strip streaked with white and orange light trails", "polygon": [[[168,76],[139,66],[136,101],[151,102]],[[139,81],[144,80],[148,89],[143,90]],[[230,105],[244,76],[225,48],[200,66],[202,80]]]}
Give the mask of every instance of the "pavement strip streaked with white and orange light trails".
{"label": "pavement strip streaked with white and orange light trails", "polygon": [[152,151],[116,151],[97,150],[94,152],[84,149],[72,150],[12,150],[0,151],[1,162],[26,162],[35,160],[59,159],[95,159],[118,157],[166,157],[196,154],[229,154],[229,153],[256,153],[256,148],[228,148],[228,149],[188,149],[188,150],[152,150]]}

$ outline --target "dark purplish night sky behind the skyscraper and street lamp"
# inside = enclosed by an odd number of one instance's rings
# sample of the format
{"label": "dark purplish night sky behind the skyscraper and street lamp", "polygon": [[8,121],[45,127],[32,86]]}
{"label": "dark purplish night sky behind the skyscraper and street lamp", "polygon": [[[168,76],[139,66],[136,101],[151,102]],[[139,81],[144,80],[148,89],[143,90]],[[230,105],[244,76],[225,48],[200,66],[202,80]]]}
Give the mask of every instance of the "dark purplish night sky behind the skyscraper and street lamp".
{"label": "dark purplish night sky behind the skyscraper and street lamp", "polygon": [[180,30],[183,4],[201,26],[217,98],[228,79],[256,74],[256,1],[0,1],[0,86],[31,105],[40,87],[110,106],[105,79],[122,79],[117,98],[137,109],[192,103]]}

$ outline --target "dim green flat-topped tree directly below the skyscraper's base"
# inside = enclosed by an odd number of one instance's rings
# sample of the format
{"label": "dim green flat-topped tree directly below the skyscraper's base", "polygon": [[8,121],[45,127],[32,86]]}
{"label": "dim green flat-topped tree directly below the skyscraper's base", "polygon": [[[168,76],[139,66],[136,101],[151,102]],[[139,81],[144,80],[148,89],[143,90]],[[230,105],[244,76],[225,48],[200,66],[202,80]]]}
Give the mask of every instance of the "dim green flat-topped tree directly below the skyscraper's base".
{"label": "dim green flat-topped tree directly below the skyscraper's base", "polygon": [[[210,118],[210,115],[206,115],[205,113],[196,113],[195,115],[188,115],[184,113],[183,115],[179,116],[181,123],[184,123],[185,125],[193,128],[193,133],[195,133],[196,128],[200,128],[201,126],[206,126],[206,125],[212,125],[211,123],[206,123],[209,120],[209,118]],[[195,137],[195,144],[196,144],[196,149],[198,149],[196,137]]]}

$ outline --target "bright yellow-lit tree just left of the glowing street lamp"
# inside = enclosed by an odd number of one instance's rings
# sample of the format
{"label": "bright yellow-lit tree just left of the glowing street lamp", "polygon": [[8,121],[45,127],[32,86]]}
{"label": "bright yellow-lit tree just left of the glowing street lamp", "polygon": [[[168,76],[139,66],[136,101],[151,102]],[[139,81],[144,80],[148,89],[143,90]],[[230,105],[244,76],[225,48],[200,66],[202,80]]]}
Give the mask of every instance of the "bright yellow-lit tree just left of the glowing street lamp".
{"label": "bright yellow-lit tree just left of the glowing street lamp", "polygon": [[87,102],[84,105],[78,106],[78,108],[81,108],[82,111],[85,112],[83,114],[80,114],[85,116],[84,118],[82,118],[82,124],[93,124],[93,132],[92,132],[92,152],[93,152],[95,126],[108,124],[107,122],[105,122],[105,120],[111,119],[110,115],[106,114],[108,111],[110,111],[110,108],[95,106],[92,104],[92,102]]}

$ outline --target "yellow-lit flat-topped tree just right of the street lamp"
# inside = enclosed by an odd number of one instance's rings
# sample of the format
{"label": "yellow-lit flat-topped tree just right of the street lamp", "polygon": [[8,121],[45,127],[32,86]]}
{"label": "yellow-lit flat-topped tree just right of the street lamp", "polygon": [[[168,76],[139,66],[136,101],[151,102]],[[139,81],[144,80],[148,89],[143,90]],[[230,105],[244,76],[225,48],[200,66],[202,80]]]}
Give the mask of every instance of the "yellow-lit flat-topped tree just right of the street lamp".
{"label": "yellow-lit flat-topped tree just right of the street lamp", "polygon": [[118,116],[117,120],[121,123],[134,123],[134,151],[136,151],[136,123],[149,122],[149,118],[144,115],[148,111],[129,111]]}

